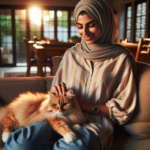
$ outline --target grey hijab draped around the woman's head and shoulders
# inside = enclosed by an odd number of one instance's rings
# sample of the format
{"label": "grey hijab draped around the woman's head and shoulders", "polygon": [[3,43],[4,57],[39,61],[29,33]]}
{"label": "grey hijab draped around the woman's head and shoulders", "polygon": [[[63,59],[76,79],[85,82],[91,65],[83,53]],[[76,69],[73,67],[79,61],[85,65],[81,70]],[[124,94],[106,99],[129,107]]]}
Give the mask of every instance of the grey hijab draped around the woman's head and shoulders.
{"label": "grey hijab draped around the woman's head and shoulders", "polygon": [[113,44],[115,38],[115,19],[111,9],[103,0],[81,0],[75,7],[75,22],[81,11],[87,12],[101,27],[101,37],[90,45],[84,39],[73,47],[74,52],[91,61],[103,61],[116,58],[125,53],[131,58],[131,63],[136,77],[136,64],[132,54],[122,45]]}

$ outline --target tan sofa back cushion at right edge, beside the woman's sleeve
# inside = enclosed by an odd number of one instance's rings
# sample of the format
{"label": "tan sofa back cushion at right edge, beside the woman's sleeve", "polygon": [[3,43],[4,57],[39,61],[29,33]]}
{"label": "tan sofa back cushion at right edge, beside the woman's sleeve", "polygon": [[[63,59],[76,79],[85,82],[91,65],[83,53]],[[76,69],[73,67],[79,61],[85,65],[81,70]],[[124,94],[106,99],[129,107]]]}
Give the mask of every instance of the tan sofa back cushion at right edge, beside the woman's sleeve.
{"label": "tan sofa back cushion at right edge, beside the woman's sleeve", "polygon": [[132,122],[150,122],[150,67],[138,77],[137,105]]}

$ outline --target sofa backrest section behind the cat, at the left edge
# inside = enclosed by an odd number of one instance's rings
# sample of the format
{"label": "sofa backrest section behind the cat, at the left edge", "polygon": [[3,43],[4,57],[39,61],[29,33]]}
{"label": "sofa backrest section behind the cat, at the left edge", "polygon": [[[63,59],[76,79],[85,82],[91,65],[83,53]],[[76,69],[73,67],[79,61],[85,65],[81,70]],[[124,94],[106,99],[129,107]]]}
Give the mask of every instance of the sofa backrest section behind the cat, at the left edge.
{"label": "sofa backrest section behind the cat, at the left edge", "polygon": [[47,92],[42,77],[0,78],[0,103],[8,104],[23,92]]}

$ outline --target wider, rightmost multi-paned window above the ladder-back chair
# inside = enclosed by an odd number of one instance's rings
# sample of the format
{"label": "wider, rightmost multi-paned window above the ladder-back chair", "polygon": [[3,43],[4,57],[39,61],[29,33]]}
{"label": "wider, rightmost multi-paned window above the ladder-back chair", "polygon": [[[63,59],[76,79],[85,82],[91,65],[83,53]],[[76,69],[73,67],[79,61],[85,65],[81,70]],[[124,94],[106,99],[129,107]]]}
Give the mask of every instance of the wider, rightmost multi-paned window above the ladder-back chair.
{"label": "wider, rightmost multi-paned window above the ladder-back chair", "polygon": [[135,28],[135,42],[139,41],[139,38],[145,38],[146,28],[146,2],[137,4],[136,7],[136,28]]}

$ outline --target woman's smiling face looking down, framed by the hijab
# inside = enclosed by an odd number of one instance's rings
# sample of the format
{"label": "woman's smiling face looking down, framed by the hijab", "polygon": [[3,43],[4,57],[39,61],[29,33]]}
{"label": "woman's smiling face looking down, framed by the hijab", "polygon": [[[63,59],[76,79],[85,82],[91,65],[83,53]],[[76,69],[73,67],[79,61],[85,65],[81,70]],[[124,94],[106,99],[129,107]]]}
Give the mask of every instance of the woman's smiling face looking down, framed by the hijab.
{"label": "woman's smiling face looking down, framed by the hijab", "polygon": [[78,33],[87,45],[96,42],[101,36],[100,25],[88,14],[79,15],[76,24]]}

